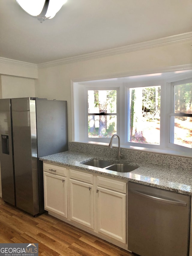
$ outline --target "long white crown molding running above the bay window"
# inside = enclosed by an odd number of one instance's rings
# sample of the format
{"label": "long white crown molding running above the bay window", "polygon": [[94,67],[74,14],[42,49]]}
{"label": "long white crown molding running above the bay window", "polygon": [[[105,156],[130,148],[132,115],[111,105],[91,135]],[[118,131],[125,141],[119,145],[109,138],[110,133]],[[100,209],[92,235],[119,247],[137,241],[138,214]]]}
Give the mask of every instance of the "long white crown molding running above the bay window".
{"label": "long white crown molding running above the bay window", "polygon": [[127,46],[113,48],[113,49],[109,49],[109,50],[103,50],[103,51],[78,55],[78,56],[64,58],[64,59],[58,59],[55,61],[44,62],[44,63],[38,64],[38,68],[47,68],[47,67],[67,64],[70,62],[77,62],[77,61],[94,59],[94,58],[104,57],[104,56],[109,56],[109,55],[128,53],[128,52],[132,52],[132,51],[143,50],[143,49],[157,47],[157,46],[163,46],[163,45],[167,45],[167,44],[174,44],[174,43],[188,41],[188,40],[192,40],[192,32],[168,36],[168,37],[159,38],[159,39],[146,41],[146,42],[142,42],[142,43],[137,43],[137,44],[130,44]]}

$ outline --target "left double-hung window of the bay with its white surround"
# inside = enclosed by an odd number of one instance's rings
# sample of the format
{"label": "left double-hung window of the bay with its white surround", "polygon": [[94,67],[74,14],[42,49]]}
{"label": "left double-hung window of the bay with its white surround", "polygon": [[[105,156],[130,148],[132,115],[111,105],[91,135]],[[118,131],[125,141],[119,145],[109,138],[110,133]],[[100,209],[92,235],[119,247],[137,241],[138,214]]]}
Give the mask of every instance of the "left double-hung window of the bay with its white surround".
{"label": "left double-hung window of the bay with its white surround", "polygon": [[119,84],[102,82],[75,83],[74,140],[109,143],[119,133]]}

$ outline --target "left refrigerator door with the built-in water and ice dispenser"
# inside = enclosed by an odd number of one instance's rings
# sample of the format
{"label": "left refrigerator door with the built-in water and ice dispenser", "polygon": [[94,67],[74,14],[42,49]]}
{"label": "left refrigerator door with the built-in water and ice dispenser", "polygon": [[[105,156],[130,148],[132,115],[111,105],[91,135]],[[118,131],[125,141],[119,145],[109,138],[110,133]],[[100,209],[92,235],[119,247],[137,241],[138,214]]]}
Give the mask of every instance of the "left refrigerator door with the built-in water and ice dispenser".
{"label": "left refrigerator door with the built-in water and ice dispenser", "polygon": [[10,99],[0,99],[0,164],[2,198],[15,205],[14,160]]}

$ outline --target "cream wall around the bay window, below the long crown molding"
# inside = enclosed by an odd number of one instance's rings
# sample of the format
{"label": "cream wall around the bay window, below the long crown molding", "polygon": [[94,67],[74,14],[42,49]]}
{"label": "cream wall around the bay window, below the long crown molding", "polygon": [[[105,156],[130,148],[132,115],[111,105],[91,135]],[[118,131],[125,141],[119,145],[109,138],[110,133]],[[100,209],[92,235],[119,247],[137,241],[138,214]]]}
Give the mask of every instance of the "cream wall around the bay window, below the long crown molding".
{"label": "cream wall around the bay window, below the long crown molding", "polygon": [[[127,53],[86,59],[57,66],[39,68],[36,96],[66,100],[68,108],[69,141],[72,140],[71,79],[94,80],[146,74],[153,70],[192,64],[190,40]],[[123,74],[123,75],[122,75]],[[90,78],[90,79],[88,79]]]}

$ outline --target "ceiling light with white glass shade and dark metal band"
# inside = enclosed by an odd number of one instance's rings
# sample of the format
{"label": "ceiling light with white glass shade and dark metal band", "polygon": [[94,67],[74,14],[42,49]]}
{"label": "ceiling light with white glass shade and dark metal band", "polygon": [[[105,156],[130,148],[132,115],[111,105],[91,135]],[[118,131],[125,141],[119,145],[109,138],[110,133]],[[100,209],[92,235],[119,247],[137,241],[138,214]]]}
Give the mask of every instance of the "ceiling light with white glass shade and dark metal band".
{"label": "ceiling light with white glass shade and dark metal band", "polygon": [[67,0],[16,0],[17,4],[30,16],[41,23],[52,19]]}

